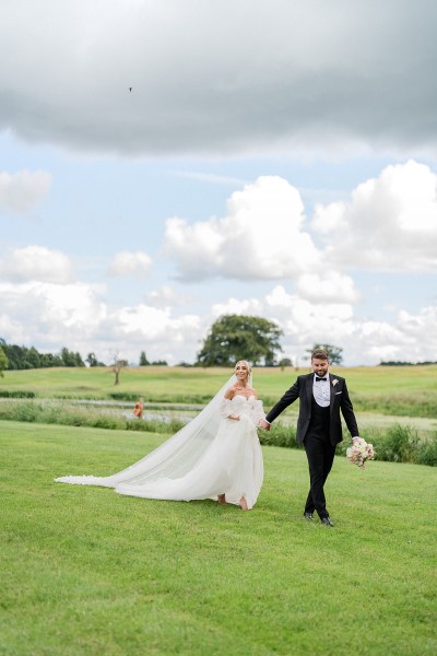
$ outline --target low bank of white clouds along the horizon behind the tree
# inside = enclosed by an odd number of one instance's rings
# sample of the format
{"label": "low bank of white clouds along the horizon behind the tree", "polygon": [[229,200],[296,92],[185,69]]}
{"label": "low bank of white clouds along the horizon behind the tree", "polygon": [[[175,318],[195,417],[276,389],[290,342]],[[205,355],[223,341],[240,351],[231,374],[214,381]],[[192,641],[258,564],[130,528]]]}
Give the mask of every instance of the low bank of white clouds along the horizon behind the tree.
{"label": "low bank of white clouds along the horizon behind the tree", "polygon": [[[0,283],[0,335],[10,343],[59,352],[67,345],[83,358],[94,351],[110,362],[118,351],[138,363],[193,362],[212,323],[223,314],[264,316],[283,329],[284,355],[304,362],[314,343],[343,349],[345,364],[377,364],[381,360],[434,360],[437,352],[437,307],[398,313],[392,324],[361,319],[350,303],[311,303],[283,285],[262,297],[231,297],[202,315],[181,314],[146,304],[109,307],[105,288],[85,283]],[[243,354],[244,355],[244,354]]]}

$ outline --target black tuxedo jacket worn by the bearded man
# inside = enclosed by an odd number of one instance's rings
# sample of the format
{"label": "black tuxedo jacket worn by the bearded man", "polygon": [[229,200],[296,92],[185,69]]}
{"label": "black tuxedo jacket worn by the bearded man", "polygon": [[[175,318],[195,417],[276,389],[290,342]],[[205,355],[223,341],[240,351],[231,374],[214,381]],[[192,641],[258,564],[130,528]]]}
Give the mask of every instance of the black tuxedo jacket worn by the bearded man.
{"label": "black tuxedo jacket worn by the bearded man", "polygon": [[[332,444],[338,444],[343,440],[342,423],[340,411],[352,437],[358,436],[358,426],[356,423],[354,409],[347,393],[347,386],[344,378],[328,374],[331,385],[330,389],[330,440]],[[335,382],[335,384],[333,384]],[[281,400],[270,410],[265,417],[271,423],[285,408],[291,406],[296,399],[300,401],[299,417],[297,420],[297,443],[303,444],[308,431],[311,419],[314,374],[297,376],[296,383],[284,394]]]}

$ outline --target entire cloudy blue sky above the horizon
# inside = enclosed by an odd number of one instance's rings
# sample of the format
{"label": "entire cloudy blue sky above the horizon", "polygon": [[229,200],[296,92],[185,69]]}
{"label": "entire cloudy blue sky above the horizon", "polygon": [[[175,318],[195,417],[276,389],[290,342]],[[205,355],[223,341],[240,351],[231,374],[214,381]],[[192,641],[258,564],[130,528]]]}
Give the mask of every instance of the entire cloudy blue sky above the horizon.
{"label": "entire cloudy blue sky above the horizon", "polygon": [[[434,0],[2,0],[0,337],[437,360]],[[245,353],[241,353],[245,358]]]}

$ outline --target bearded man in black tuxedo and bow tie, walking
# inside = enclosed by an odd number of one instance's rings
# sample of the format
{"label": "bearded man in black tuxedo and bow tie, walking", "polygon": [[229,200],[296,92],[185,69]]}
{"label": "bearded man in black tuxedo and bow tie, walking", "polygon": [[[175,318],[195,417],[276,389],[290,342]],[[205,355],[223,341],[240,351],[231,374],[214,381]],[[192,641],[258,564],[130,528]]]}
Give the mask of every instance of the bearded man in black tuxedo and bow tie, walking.
{"label": "bearded man in black tuxedo and bow tie, walking", "polygon": [[346,382],[329,373],[328,352],[316,349],[311,354],[311,374],[298,376],[296,383],[270,410],[260,425],[269,430],[271,422],[296,399],[299,399],[297,443],[303,444],[308,458],[310,489],[304,516],[312,519],[316,511],[326,526],[333,526],[326,504],[323,485],[331,471],[335,446],[343,440],[340,410],[352,438],[358,437],[358,426]]}

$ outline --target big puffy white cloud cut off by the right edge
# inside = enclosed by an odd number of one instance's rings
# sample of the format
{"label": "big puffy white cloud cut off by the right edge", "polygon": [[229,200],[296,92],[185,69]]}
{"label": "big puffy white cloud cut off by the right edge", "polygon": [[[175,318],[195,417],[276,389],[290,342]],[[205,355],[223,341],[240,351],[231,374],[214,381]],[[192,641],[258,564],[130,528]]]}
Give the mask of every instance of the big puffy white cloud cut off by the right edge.
{"label": "big puffy white cloud cut off by the right edge", "polygon": [[410,160],[356,187],[350,202],[316,208],[331,263],[388,270],[437,269],[437,175]]}

